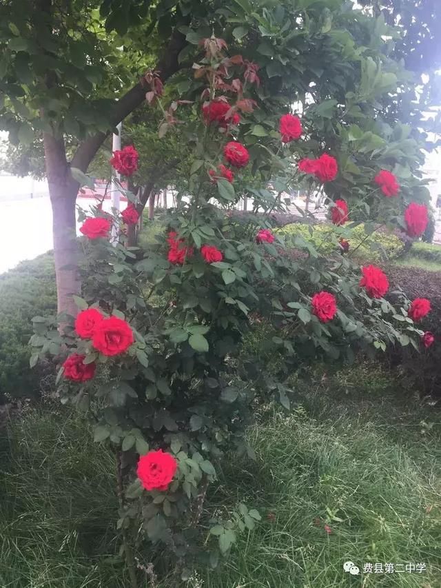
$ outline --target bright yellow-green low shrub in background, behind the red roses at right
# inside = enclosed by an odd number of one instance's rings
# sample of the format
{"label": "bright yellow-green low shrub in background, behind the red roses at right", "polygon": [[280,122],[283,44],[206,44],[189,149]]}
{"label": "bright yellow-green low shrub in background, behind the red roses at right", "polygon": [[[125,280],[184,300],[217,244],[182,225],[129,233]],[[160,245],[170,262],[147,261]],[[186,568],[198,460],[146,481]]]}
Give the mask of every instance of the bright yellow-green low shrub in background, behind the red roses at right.
{"label": "bright yellow-green low shrub in background, behind the red roses at right", "polygon": [[385,230],[376,230],[368,236],[363,224],[353,228],[350,225],[336,228],[328,223],[318,225],[291,223],[280,228],[278,232],[290,238],[302,236],[324,256],[340,250],[338,238],[342,236],[349,241],[350,252],[353,252],[353,256],[360,261],[379,262],[396,259],[402,255],[405,246],[399,236]]}

